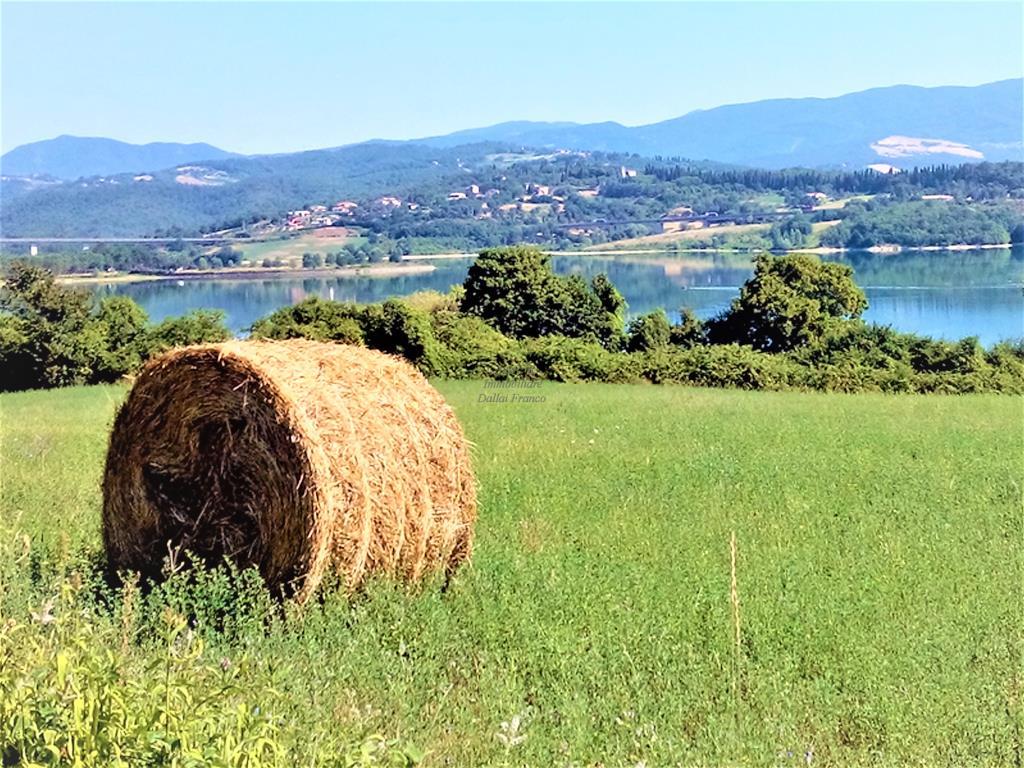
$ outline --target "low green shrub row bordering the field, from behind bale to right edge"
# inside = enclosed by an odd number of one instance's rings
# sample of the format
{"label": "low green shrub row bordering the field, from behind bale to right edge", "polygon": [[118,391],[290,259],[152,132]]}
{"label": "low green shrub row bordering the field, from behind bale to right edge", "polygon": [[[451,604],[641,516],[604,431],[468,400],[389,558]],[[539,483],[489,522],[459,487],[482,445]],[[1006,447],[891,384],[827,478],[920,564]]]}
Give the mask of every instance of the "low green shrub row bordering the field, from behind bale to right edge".
{"label": "low green shrub row bordering the field, from behind bale to right edge", "polygon": [[[252,332],[256,338],[361,344],[401,355],[428,376],[456,379],[1024,394],[1020,344],[985,351],[973,339],[933,341],[851,321],[822,347],[786,353],[739,344],[677,346],[660,335],[651,347],[616,352],[593,340],[564,336],[512,339],[435,296],[433,306],[422,296],[369,306],[311,298],[279,309],[256,323]],[[880,339],[891,348],[880,351]]]}

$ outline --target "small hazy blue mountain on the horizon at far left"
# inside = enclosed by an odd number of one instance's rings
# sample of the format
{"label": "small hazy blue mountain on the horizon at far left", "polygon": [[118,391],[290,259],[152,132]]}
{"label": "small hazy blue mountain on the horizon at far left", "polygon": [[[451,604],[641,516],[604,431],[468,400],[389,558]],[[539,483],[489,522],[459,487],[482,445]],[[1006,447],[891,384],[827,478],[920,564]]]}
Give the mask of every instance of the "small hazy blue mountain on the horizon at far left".
{"label": "small hazy blue mountain on the horizon at far left", "polygon": [[73,180],[83,176],[158,171],[182,163],[239,157],[210,144],[158,141],[129,144],[113,138],[57,136],[22,144],[0,158],[5,176],[51,176]]}

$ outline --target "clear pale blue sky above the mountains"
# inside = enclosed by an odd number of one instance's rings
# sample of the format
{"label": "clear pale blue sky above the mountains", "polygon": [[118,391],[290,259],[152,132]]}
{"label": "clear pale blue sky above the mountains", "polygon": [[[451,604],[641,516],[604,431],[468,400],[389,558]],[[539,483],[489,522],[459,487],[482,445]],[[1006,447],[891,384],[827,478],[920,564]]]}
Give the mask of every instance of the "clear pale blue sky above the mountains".
{"label": "clear pale blue sky above the mountains", "polygon": [[1021,77],[1007,3],[16,3],[0,144],[60,133],[244,153],[505,120]]}

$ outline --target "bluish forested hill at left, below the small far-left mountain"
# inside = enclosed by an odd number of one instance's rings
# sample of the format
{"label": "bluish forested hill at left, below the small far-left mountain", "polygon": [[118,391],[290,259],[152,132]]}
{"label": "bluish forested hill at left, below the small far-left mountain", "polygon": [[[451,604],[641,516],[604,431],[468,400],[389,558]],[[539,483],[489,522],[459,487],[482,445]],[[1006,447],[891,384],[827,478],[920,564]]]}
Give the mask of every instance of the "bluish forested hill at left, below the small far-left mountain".
{"label": "bluish forested hill at left, below the small far-left mountain", "polygon": [[5,237],[197,234],[311,203],[406,195],[465,174],[502,148],[371,142],[49,184],[5,194],[0,230]]}

